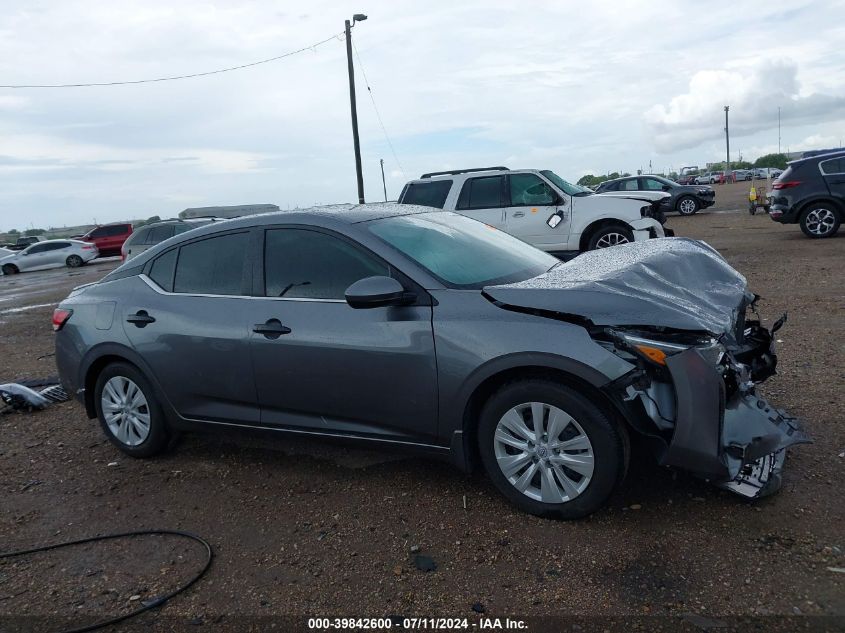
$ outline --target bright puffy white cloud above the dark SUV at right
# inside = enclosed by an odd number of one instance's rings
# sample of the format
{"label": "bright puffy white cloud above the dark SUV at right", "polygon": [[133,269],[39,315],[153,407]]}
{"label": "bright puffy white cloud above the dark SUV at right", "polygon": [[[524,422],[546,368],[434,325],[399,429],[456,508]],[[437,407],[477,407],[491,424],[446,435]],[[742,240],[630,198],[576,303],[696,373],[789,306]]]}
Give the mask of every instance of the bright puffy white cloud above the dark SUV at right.
{"label": "bright puffy white cloud above the dark SUV at right", "polygon": [[693,75],[686,93],[643,115],[658,152],[694,147],[724,138],[724,106],[730,106],[732,137],[781,124],[803,125],[845,117],[845,97],[801,90],[798,66],[789,60],[758,62],[737,70],[703,70]]}

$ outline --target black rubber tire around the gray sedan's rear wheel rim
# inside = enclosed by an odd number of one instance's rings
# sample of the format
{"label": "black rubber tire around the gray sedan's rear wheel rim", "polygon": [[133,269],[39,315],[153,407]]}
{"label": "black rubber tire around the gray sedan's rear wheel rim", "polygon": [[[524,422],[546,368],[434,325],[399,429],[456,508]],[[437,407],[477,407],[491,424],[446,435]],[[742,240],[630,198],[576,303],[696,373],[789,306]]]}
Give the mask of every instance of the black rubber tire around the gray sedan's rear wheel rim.
{"label": "black rubber tire around the gray sedan's rear wheel rim", "polygon": [[[138,389],[142,392],[147,401],[147,412],[150,418],[149,433],[141,443],[130,446],[122,442],[109,428],[103,415],[103,390],[106,383],[112,378],[121,377],[131,380]],[[109,438],[112,444],[117,446],[121,451],[132,457],[152,457],[162,452],[170,442],[170,429],[167,426],[167,421],[164,417],[164,411],[158,401],[155,390],[150,381],[133,365],[128,363],[112,363],[106,366],[100,375],[97,377],[97,384],[94,388],[94,405],[97,409],[97,417],[100,420],[100,426],[106,437]]]}

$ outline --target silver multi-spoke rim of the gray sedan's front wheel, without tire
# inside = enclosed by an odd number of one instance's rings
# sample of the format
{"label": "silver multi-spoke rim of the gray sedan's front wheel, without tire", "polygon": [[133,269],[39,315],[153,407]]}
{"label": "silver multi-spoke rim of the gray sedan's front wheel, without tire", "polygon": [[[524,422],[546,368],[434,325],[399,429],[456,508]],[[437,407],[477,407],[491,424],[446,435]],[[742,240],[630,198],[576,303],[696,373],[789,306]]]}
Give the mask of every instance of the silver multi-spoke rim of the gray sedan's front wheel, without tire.
{"label": "silver multi-spoke rim of the gray sedan's front wheel, without tire", "polygon": [[590,438],[568,413],[542,402],[510,409],[496,425],[494,453],[511,485],[543,503],[565,503],[593,477]]}

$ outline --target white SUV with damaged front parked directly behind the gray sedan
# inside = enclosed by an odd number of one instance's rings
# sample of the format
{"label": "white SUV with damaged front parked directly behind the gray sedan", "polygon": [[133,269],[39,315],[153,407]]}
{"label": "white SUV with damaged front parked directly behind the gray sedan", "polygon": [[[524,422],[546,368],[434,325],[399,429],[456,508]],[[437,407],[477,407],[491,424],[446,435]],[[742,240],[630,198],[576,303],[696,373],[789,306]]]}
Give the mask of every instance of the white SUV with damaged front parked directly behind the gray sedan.
{"label": "white SUV with damaged front parked directly behind the gray sedan", "polygon": [[423,174],[405,185],[399,203],[455,211],[560,256],[673,235],[647,196],[599,196],[548,169]]}

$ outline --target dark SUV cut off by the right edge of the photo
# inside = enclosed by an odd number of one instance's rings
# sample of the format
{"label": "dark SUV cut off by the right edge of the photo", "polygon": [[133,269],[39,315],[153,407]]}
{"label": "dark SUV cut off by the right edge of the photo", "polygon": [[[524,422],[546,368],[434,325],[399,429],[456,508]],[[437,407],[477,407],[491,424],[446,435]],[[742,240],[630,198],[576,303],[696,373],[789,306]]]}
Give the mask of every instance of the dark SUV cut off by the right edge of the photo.
{"label": "dark SUV cut off by the right edge of the photo", "polygon": [[845,217],[845,152],[792,161],[769,194],[769,216],[811,238],[836,235]]}

